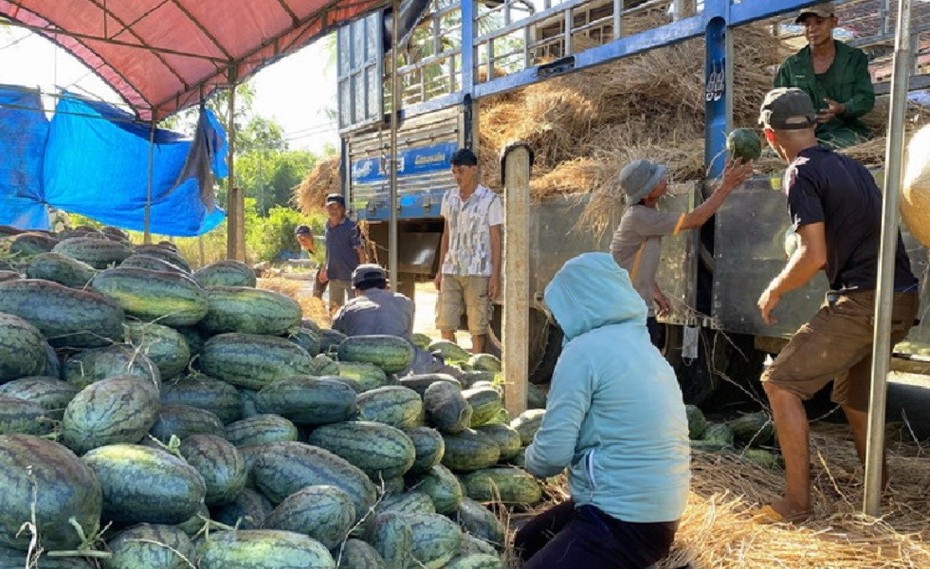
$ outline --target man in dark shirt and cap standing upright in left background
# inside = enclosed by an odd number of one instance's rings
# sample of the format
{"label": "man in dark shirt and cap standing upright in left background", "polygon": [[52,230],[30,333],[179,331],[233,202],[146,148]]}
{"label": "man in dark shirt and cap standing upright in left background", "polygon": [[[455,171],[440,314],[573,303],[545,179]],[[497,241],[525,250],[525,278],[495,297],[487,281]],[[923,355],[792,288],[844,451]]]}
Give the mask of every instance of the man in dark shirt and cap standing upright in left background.
{"label": "man in dark shirt and cap standing upright in left background", "polygon": [[326,260],[319,280],[329,284],[329,311],[336,312],[345,304],[351,289],[350,279],[355,267],[368,262],[358,225],[346,216],[346,200],[339,194],[326,196]]}

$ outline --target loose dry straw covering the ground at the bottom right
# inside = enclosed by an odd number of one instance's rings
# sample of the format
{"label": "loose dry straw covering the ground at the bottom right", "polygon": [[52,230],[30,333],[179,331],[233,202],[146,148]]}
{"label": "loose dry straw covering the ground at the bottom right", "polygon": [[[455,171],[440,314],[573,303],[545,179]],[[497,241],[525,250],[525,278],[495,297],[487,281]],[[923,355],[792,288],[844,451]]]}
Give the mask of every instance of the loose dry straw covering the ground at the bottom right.
{"label": "loose dry straw covering the ground at the bottom right", "polygon": [[[812,429],[814,518],[803,524],[764,525],[755,511],[777,498],[781,470],[738,455],[697,453],[687,510],[672,554],[661,569],[898,569],[930,567],[930,448],[890,441],[891,486],[883,515],[858,513],[862,468],[845,426]],[[556,500],[558,501],[558,500]],[[510,567],[519,564],[510,560]]]}

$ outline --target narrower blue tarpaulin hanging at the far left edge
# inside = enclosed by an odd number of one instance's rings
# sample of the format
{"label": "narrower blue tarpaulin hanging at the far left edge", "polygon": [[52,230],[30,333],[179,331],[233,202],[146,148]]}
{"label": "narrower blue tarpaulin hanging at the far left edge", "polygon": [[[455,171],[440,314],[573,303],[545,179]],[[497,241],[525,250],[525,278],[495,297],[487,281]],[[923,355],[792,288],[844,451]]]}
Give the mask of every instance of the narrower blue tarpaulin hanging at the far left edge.
{"label": "narrower blue tarpaulin hanging at the far left edge", "polygon": [[0,225],[48,229],[42,203],[42,157],[48,119],[39,93],[0,85]]}

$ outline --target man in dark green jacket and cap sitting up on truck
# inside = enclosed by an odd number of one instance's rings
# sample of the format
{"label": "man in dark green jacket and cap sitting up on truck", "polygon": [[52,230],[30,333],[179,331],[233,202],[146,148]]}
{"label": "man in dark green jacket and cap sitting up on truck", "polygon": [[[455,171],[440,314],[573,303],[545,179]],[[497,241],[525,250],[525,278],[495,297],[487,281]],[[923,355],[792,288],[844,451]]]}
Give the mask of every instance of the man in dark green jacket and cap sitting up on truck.
{"label": "man in dark green jacket and cap sitting up on truck", "polygon": [[804,26],[808,45],[781,64],[775,87],[807,93],[817,111],[817,139],[845,148],[871,136],[860,117],[875,106],[875,90],[865,53],[833,39],[835,12],[833,2],[801,10],[795,23]]}

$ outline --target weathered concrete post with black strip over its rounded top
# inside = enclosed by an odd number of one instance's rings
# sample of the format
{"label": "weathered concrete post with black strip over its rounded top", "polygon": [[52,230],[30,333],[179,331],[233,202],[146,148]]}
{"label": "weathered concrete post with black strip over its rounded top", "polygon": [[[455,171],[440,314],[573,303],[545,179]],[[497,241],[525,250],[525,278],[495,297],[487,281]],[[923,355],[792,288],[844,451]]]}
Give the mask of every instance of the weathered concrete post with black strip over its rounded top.
{"label": "weathered concrete post with black strip over its rounded top", "polygon": [[526,411],[530,316],[530,149],[504,150],[504,404],[511,417]]}

